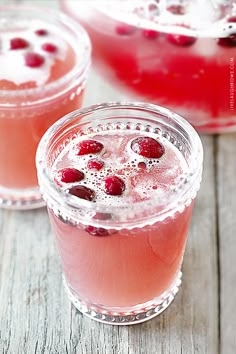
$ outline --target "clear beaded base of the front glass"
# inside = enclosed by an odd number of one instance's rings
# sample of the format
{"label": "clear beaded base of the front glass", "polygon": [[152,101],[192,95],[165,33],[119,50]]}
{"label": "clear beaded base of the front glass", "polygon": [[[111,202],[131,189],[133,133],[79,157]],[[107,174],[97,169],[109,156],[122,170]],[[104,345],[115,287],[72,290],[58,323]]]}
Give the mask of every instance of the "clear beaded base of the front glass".
{"label": "clear beaded base of the front glass", "polygon": [[74,291],[67,284],[64,277],[63,282],[70,301],[84,315],[95,321],[106,324],[133,325],[148,321],[162,313],[171,304],[175,295],[179,291],[182,282],[181,277],[182,272],[179,272],[169,290],[152,301],[134,306],[132,310],[130,310],[130,308],[106,309],[103,306],[93,305],[86,301],[79,300]]}

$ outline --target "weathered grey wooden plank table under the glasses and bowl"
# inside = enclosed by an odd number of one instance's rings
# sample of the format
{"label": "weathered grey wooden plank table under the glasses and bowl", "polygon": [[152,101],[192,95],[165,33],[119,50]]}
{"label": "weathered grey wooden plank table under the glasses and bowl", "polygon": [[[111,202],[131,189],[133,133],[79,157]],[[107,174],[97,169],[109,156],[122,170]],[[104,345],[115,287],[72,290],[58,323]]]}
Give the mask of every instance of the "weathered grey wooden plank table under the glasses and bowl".
{"label": "weathered grey wooden plank table under the glasses and bowl", "polygon": [[[119,99],[91,73],[85,105]],[[62,286],[46,209],[0,210],[0,353],[236,353],[236,134],[201,137],[204,175],[183,284],[146,323],[117,327],[81,315]]]}

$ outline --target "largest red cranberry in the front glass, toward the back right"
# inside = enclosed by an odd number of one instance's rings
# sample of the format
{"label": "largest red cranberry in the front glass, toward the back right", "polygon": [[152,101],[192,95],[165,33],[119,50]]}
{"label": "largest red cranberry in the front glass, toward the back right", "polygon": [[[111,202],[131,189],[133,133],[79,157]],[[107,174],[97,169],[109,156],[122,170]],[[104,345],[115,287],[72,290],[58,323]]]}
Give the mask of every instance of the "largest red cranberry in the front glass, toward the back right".
{"label": "largest red cranberry in the front glass, toward the back right", "polygon": [[156,159],[159,159],[165,151],[163,145],[157,140],[145,136],[134,139],[131,149],[138,155]]}

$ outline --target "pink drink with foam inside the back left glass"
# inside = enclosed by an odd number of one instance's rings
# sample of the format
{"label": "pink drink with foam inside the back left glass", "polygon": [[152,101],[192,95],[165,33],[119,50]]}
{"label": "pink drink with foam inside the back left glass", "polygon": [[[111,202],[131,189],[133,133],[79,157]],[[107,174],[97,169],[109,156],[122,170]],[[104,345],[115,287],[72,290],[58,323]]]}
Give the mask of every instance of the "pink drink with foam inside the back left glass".
{"label": "pink drink with foam inside the back left glass", "polygon": [[[66,85],[62,86],[61,93],[57,92],[57,86],[50,93],[44,92],[44,87],[62,79],[73,69],[77,54],[59,29],[51,29],[42,21],[38,27],[30,26],[19,31],[13,29],[0,33],[0,62],[4,63],[0,73],[0,90],[11,91],[13,95],[11,106],[8,107],[8,98],[0,97],[0,165],[4,166],[0,169],[0,186],[9,189],[37,186],[35,153],[39,141],[56,120],[81,106],[84,92],[80,85],[72,85],[67,90]],[[45,29],[49,34],[38,36],[34,32],[37,29]],[[7,49],[10,39],[16,37],[27,39],[29,47]],[[43,43],[55,44],[56,53],[43,51],[40,47]],[[44,64],[36,68],[27,67],[23,60],[27,52],[42,55]],[[8,58],[5,62],[4,57]],[[14,75],[6,74],[4,65],[10,66]],[[24,95],[23,90],[34,88],[38,91],[32,91],[27,99],[28,93]],[[49,95],[54,97],[47,100]],[[27,104],[22,105],[25,101]]]}

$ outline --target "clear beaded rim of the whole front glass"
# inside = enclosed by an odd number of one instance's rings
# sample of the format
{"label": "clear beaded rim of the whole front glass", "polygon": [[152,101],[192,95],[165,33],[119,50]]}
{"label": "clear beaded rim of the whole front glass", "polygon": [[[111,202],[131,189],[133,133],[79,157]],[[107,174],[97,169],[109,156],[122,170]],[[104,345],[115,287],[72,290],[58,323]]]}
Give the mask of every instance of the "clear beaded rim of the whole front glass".
{"label": "clear beaded rim of the whole front glass", "polygon": [[[181,212],[181,210],[183,210],[182,209],[183,206],[186,207],[191,204],[192,200],[196,197],[198,189],[200,188],[200,183],[202,179],[202,163],[203,163],[203,147],[202,147],[202,142],[200,140],[200,137],[196,132],[196,130],[191,126],[191,124],[188,123],[184,118],[182,118],[177,113],[162,106],[158,106],[150,103],[136,102],[136,101],[135,102],[110,101],[110,102],[95,104],[85,108],[80,108],[65,115],[47,130],[47,132],[43,135],[36,152],[36,167],[38,173],[38,180],[39,180],[41,192],[43,194],[46,203],[50,205],[52,209],[55,209],[57,212],[58,212],[58,208],[56,204],[60,205],[60,207],[62,208],[68,208],[68,207],[72,209],[86,208],[86,210],[95,210],[97,212],[99,211],[102,211],[104,213],[108,211],[111,212],[111,206],[109,205],[105,205],[102,203],[97,203],[97,204],[91,203],[90,201],[83,200],[73,195],[70,195],[69,193],[66,193],[64,190],[58,187],[55,184],[55,182],[50,178],[50,176],[47,174],[47,159],[45,159],[45,155],[46,155],[45,152],[48,146],[50,145],[50,139],[53,138],[53,136],[60,130],[60,128],[62,128],[64,125],[72,121],[73,118],[94,113],[95,111],[101,111],[104,109],[116,109],[116,108],[120,108],[120,109],[130,108],[133,110],[135,109],[145,110],[146,112],[149,111],[150,113],[161,114],[164,117],[174,119],[177,123],[181,124],[181,127],[184,128],[185,132],[187,131],[187,133],[189,133],[189,136],[191,137],[192,146],[194,147],[194,153],[191,157],[191,166],[189,166],[189,175],[188,175],[189,183],[183,181],[179,185],[179,190],[181,190],[181,192],[180,194],[178,194],[178,197],[176,198],[175,195],[175,198],[172,198],[171,203],[168,203],[168,207],[166,209],[160,211],[158,214],[150,216],[150,218],[146,217],[145,220],[148,219],[148,223],[152,223],[150,221],[152,219],[154,220],[153,222],[156,222],[157,221],[156,219],[164,220],[167,216],[170,216],[167,215],[168,213],[170,213],[170,211],[171,211],[171,215],[174,214],[176,211]],[[188,193],[190,190],[192,190],[192,192]],[[189,196],[187,196],[187,194],[189,194]],[[60,202],[58,202],[58,200]],[[153,200],[149,199],[149,200],[136,202],[133,204],[133,207],[135,207],[135,210],[138,209],[143,210],[144,206],[147,207],[149,206],[151,208],[154,204],[155,203],[153,203]],[[130,207],[131,207],[130,204],[116,205],[116,206],[112,205],[112,213],[113,212],[121,213],[127,210],[128,208],[130,209]],[[86,220],[83,220],[83,222],[86,224]],[[87,224],[91,224],[91,220]]]}

